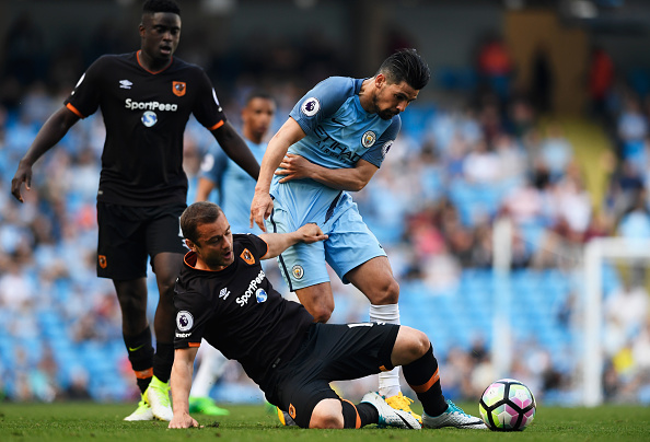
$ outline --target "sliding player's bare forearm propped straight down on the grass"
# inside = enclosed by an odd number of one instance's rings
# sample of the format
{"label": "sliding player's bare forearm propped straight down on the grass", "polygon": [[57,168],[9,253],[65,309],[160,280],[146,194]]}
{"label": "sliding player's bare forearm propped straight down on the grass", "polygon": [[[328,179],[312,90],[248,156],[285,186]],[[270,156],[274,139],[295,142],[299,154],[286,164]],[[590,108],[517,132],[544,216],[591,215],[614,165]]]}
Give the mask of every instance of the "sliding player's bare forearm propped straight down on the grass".
{"label": "sliding player's bare forearm propped straight down on the grass", "polygon": [[191,388],[194,359],[197,351],[198,347],[179,348],[174,353],[174,365],[170,379],[174,417],[170,421],[169,428],[198,427],[196,419],[189,416],[189,389]]}

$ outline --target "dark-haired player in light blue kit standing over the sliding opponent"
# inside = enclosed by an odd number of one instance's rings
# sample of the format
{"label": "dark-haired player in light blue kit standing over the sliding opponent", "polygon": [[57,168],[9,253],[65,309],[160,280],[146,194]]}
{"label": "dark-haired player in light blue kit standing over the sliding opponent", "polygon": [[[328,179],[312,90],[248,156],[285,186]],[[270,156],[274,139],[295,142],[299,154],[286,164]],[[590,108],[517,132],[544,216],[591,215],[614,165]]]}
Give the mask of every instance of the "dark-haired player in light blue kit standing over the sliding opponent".
{"label": "dark-haired player in light blue kit standing over the sliding opponent", "polygon": [[[334,310],[327,263],[370,300],[370,321],[399,323],[399,286],[348,190],[362,189],[379,170],[399,131],[399,113],[429,78],[415,49],[391,55],[372,78],[328,78],[298,102],[268,144],[251,225],[265,230],[266,220],[268,231],[286,233],[316,223],[329,235],[278,257],[289,289],[315,321],[327,322]],[[379,393],[410,411],[398,376],[397,369],[381,373]]]}

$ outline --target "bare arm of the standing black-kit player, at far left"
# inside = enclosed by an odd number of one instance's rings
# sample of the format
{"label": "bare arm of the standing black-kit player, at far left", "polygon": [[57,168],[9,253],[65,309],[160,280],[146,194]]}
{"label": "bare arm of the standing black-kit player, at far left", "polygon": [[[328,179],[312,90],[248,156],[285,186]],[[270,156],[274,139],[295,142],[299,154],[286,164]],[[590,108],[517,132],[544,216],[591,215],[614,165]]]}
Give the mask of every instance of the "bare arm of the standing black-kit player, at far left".
{"label": "bare arm of the standing black-kit player, at far left", "polygon": [[79,121],[79,116],[67,107],[61,107],[45,121],[27,153],[20,161],[15,175],[11,181],[11,195],[15,199],[23,202],[23,196],[21,195],[23,183],[27,190],[32,187],[32,166],[36,160],[59,142],[77,121]]}

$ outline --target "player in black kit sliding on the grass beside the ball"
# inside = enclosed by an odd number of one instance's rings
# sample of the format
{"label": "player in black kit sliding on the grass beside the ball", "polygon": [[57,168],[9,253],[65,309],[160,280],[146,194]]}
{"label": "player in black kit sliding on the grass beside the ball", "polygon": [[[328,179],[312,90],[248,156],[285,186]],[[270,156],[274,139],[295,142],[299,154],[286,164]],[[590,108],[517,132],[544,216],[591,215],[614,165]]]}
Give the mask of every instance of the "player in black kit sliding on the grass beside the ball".
{"label": "player in black kit sliding on the grass beside the ball", "polygon": [[190,252],[176,282],[176,356],[172,370],[174,418],[170,428],[197,427],[188,395],[194,359],[205,339],[237,360],[269,403],[302,428],[360,428],[369,423],[419,429],[414,415],[390,407],[376,393],[360,404],[343,400],[329,382],[404,367],[422,403],[425,428],[485,429],[442,394],[438,361],[427,336],[385,323],[320,324],[266,278],[260,259],[294,244],[327,241],[310,223],[295,232],[233,235],[212,202],[195,202],[181,217]]}

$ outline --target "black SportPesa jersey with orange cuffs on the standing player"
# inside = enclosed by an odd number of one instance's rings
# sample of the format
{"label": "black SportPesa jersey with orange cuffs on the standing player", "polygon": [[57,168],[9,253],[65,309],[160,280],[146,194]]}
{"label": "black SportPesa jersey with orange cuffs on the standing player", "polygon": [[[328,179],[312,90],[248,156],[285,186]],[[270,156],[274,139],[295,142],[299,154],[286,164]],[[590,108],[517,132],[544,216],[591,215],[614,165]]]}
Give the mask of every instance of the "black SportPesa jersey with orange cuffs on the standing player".
{"label": "black SportPesa jersey with orange cuffs on the standing player", "polygon": [[97,200],[126,206],[185,202],[183,133],[189,115],[210,130],[225,123],[201,68],[172,58],[162,71],[150,72],[139,51],[98,58],[66,106],[81,118],[102,109],[106,141]]}

